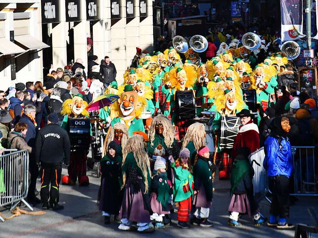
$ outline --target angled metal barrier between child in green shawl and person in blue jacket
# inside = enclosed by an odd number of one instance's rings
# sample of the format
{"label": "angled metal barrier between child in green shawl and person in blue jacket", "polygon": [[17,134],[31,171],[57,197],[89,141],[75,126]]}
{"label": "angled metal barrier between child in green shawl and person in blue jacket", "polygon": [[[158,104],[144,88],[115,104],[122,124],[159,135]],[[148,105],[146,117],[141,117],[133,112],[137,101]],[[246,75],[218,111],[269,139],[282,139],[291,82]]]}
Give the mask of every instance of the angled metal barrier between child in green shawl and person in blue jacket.
{"label": "angled metal barrier between child in green shawl and person in blue jacket", "polygon": [[250,161],[255,172],[253,177],[253,187],[254,197],[257,201],[262,200],[264,197],[266,200],[268,200],[266,197],[266,193],[268,191],[268,180],[266,170],[263,167],[264,158],[264,147],[258,149],[250,155]]}

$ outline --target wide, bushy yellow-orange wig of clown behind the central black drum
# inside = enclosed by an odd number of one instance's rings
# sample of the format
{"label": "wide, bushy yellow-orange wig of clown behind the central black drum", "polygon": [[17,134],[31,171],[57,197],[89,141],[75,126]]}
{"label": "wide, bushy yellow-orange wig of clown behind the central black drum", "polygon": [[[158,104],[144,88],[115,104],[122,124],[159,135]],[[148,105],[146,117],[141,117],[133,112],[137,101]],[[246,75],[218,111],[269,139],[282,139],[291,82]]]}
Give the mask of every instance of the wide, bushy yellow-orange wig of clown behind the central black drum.
{"label": "wide, bushy yellow-orange wig of clown behind the central black drum", "polygon": [[[174,88],[176,91],[181,89],[181,85],[179,81],[177,80],[177,70],[178,68],[175,67],[165,74],[165,84],[170,82],[171,88]],[[187,75],[187,81],[185,82],[185,87],[186,88],[193,87],[197,79],[197,72],[193,70],[192,66],[183,66],[182,70],[184,70]]]}

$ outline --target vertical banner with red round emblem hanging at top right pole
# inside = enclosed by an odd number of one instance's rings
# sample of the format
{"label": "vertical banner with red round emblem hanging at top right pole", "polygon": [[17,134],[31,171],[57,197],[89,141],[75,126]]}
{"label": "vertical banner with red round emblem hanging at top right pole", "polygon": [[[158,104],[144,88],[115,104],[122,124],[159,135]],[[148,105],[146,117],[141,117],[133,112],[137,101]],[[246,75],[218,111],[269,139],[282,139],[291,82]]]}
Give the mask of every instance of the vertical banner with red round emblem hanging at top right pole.
{"label": "vertical banner with red round emblem hanging at top right pole", "polygon": [[302,0],[280,0],[281,40],[296,40],[302,34]]}

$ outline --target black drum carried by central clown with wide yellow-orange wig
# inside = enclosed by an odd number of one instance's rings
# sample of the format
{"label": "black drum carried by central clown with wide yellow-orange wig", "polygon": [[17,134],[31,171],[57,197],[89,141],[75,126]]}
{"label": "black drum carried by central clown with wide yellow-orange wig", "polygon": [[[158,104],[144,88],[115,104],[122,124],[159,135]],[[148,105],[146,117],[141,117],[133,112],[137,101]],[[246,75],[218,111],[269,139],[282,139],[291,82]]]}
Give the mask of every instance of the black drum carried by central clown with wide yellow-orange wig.
{"label": "black drum carried by central clown with wide yellow-orange wig", "polygon": [[176,91],[176,113],[178,119],[193,119],[196,116],[196,104],[192,90]]}

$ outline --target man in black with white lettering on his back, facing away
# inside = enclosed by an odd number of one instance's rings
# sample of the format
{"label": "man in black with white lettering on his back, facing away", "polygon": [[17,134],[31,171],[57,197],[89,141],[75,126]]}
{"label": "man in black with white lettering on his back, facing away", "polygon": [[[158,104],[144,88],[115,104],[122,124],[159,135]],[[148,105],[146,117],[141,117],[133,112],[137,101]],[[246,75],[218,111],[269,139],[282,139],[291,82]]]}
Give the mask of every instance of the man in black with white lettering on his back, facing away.
{"label": "man in black with white lettering on his back, facing away", "polygon": [[[41,165],[41,205],[42,209],[48,207],[61,210],[59,205],[59,183],[61,181],[62,161],[67,166],[70,163],[70,139],[66,130],[57,124],[59,117],[56,112],[47,117],[47,126],[43,127],[36,139],[35,160]],[[65,159],[64,159],[65,155]],[[49,185],[51,182],[51,190]],[[48,199],[50,197],[50,206]]]}

